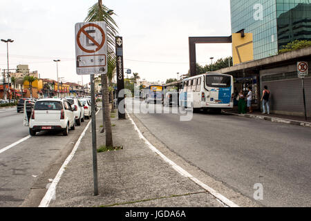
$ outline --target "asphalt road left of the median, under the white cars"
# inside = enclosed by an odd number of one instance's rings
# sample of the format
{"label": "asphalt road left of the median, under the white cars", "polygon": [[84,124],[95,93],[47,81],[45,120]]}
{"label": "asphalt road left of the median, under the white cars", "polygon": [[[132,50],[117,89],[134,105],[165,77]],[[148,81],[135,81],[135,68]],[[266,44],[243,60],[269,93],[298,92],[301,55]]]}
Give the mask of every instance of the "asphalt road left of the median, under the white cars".
{"label": "asphalt road left of the median, under the white cars", "polygon": [[[29,135],[28,128],[23,126],[23,113],[17,113],[15,108],[1,109],[0,119],[0,151]],[[88,120],[69,131],[67,137],[40,132],[0,152],[0,206],[39,205],[49,179],[55,177],[87,123]]]}

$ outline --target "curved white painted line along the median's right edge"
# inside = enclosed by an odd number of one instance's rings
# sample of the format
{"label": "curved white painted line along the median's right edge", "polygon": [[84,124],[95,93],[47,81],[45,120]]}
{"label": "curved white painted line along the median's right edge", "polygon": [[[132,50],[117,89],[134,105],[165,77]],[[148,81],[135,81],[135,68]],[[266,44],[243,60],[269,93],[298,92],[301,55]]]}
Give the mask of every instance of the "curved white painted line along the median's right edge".
{"label": "curved white painted line along the median's right edge", "polygon": [[[127,112],[126,112],[127,113]],[[127,113],[127,115],[129,116],[129,119],[131,120],[135,131],[137,131],[139,137],[144,140],[144,142],[147,144],[147,146],[149,146],[149,148],[151,148],[151,151],[157,153],[158,155],[160,155],[160,157],[162,157],[162,159],[167,162],[169,165],[171,165],[173,167],[173,169],[175,169],[178,173],[180,173],[180,175],[188,177],[190,180],[192,180],[193,182],[195,182],[196,184],[198,184],[199,186],[201,186],[203,189],[205,189],[206,191],[208,191],[209,193],[211,193],[211,195],[214,195],[214,197],[216,199],[218,199],[220,202],[222,202],[223,204],[225,204],[225,206],[229,206],[229,207],[240,207],[237,204],[235,204],[234,202],[232,202],[231,200],[225,198],[225,196],[221,195],[220,193],[218,193],[217,191],[215,191],[214,189],[212,189],[211,187],[207,186],[207,184],[204,184],[203,182],[201,182],[200,180],[198,180],[196,177],[192,176],[190,173],[188,173],[187,171],[185,171],[184,169],[182,169],[180,166],[178,166],[175,162],[169,160],[169,158],[167,158],[165,155],[163,155],[155,146],[153,146],[145,137],[144,135],[142,135],[142,133],[140,132],[140,129],[138,128],[138,126],[136,126],[135,122],[133,121],[133,119],[131,118],[131,116],[129,115],[129,113]]]}

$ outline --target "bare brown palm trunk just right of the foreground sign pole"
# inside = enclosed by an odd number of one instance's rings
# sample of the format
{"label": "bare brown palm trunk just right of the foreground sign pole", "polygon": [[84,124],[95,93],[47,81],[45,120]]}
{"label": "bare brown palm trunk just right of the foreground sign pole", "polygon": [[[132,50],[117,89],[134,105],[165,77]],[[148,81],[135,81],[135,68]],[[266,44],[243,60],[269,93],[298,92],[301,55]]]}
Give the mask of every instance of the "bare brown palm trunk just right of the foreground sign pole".
{"label": "bare brown palm trunk just right of the foreground sign pole", "polygon": [[104,88],[104,125],[106,130],[106,146],[113,146],[113,137],[111,130],[111,112],[109,110],[109,90],[108,90],[108,77],[107,75],[102,75],[102,87]]}

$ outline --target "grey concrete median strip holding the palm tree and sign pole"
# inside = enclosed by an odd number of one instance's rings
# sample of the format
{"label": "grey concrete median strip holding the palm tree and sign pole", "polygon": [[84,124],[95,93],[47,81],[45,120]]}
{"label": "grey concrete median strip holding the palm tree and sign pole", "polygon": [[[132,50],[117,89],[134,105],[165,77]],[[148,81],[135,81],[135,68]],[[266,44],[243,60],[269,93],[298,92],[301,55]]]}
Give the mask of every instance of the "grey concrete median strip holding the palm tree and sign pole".
{"label": "grey concrete median strip holding the palm tree and sign pole", "polygon": [[[113,142],[120,151],[97,153],[99,195],[93,195],[91,126],[56,188],[54,207],[77,206],[224,206],[213,195],[180,175],[140,139],[129,119],[111,118]],[[127,117],[126,117],[127,118]],[[102,111],[97,114],[97,146]]]}

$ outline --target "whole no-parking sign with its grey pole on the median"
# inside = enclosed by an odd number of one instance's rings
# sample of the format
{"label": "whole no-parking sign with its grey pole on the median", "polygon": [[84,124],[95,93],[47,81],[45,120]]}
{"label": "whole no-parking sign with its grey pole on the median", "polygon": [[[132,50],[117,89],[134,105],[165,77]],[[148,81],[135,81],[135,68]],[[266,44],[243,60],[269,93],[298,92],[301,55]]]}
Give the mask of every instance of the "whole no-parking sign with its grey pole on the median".
{"label": "whole no-parking sign with its grey pole on the median", "polygon": [[104,21],[75,24],[77,75],[91,75],[91,115],[93,146],[94,195],[98,195],[96,110],[94,75],[107,73],[107,28]]}

